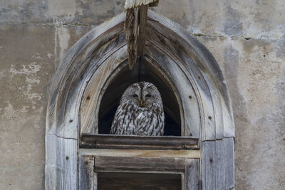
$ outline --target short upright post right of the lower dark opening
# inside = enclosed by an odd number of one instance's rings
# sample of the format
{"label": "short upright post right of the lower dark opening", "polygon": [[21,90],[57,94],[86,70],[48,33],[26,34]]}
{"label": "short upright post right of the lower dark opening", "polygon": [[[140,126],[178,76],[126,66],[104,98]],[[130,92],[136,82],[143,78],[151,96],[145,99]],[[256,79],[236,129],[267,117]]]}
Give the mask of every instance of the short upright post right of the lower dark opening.
{"label": "short upright post right of the lower dark opening", "polygon": [[185,189],[198,190],[199,159],[185,160]]}

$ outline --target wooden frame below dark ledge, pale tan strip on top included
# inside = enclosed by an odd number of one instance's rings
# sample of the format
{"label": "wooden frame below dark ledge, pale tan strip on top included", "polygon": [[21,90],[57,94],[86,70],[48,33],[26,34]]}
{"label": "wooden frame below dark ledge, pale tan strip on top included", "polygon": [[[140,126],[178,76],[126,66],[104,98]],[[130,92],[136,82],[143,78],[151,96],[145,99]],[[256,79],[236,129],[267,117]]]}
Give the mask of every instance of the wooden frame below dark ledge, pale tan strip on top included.
{"label": "wooden frame below dark ledge, pale tan strip on top included", "polygon": [[199,150],[161,151],[117,149],[110,155],[110,149],[81,149],[79,189],[97,189],[98,172],[180,174],[182,190],[200,189]]}

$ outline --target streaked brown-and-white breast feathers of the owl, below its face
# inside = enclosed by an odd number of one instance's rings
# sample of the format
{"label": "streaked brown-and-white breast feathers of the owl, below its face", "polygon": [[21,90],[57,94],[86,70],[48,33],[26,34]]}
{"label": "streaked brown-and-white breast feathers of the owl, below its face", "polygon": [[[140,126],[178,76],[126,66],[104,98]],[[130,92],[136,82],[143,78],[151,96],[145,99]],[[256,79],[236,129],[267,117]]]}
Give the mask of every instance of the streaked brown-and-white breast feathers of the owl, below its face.
{"label": "streaked brown-and-white breast feathers of the owl, below its face", "polygon": [[119,105],[111,127],[111,134],[161,136],[164,132],[163,107],[153,104],[139,107],[133,102]]}

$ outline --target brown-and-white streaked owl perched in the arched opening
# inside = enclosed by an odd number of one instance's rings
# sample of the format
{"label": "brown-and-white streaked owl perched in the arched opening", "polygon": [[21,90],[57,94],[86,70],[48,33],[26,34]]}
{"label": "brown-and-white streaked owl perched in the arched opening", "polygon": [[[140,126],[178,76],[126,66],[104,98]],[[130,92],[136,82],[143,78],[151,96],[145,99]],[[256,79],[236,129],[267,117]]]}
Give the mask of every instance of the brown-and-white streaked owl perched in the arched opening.
{"label": "brown-and-white streaked owl perched in the arched opening", "polygon": [[130,85],[120,99],[111,134],[161,136],[165,127],[162,99],[155,85]]}

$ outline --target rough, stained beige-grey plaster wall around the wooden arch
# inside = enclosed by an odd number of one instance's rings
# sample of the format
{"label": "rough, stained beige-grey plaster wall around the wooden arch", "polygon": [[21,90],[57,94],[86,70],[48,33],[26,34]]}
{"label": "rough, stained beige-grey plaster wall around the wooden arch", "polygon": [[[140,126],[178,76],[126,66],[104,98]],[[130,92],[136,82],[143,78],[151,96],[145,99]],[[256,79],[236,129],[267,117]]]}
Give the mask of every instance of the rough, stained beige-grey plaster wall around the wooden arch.
{"label": "rough, stained beige-grey plaster wall around the wooden arch", "polygon": [[[49,86],[64,53],[124,0],[0,1],[0,189],[43,189]],[[285,1],[160,1],[221,66],[237,189],[285,187]]]}

